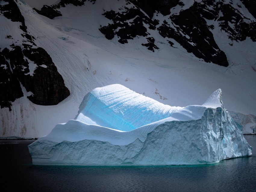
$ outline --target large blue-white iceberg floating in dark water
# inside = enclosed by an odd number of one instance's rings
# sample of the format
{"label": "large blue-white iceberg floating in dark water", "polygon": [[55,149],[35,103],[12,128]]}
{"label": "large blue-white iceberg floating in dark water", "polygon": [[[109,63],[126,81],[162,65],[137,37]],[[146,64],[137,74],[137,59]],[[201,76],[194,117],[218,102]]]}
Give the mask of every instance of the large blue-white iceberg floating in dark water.
{"label": "large blue-white iceberg floating in dark water", "polygon": [[74,120],[30,144],[35,165],[191,165],[251,156],[221,100],[171,107],[123,85],[88,93]]}

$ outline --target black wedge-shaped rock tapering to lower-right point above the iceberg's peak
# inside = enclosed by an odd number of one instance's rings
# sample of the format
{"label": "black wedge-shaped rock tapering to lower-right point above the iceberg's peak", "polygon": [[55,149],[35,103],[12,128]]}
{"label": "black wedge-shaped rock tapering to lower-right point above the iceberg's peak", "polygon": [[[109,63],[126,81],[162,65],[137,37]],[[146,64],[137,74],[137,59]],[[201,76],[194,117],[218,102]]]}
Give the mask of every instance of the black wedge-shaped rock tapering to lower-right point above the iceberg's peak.
{"label": "black wedge-shaped rock tapering to lower-right point above the iceberg's peak", "polygon": [[[172,38],[183,46],[189,53],[221,66],[228,66],[226,55],[216,44],[213,34],[201,15],[200,4],[194,3],[190,8],[181,11],[179,15],[171,15],[172,25],[163,23],[158,27],[161,36]],[[212,18],[212,15],[207,15]],[[174,25],[173,25],[174,24]],[[176,26],[176,27],[173,27]]]}

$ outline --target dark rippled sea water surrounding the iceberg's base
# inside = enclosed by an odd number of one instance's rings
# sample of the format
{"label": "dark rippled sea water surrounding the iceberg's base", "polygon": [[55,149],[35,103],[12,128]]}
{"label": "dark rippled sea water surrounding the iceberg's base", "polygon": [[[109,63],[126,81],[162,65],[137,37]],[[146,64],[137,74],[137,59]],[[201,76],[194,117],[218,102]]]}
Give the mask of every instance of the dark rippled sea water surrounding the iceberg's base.
{"label": "dark rippled sea water surrounding the iceberg's base", "polygon": [[27,145],[0,140],[1,191],[256,191],[251,157],[200,166],[34,166]]}

